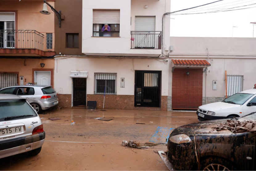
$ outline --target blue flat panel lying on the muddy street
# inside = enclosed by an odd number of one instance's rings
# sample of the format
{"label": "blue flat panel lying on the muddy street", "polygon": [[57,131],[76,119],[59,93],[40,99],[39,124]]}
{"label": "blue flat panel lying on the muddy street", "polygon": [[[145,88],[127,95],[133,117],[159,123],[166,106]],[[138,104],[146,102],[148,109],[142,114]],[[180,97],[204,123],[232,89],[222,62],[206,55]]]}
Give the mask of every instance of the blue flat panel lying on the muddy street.
{"label": "blue flat panel lying on the muddy street", "polygon": [[166,139],[168,140],[172,130],[174,130],[174,128],[162,126],[157,127],[154,135],[150,139],[150,142],[167,144]]}

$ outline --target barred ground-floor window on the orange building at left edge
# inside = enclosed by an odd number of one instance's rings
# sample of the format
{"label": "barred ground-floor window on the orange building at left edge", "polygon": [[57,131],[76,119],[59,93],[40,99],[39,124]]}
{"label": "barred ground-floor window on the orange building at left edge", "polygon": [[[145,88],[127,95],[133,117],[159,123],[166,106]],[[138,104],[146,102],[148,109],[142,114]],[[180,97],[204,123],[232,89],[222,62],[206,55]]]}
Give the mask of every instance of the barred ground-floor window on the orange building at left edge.
{"label": "barred ground-floor window on the orange building at left edge", "polygon": [[18,75],[14,73],[0,72],[0,89],[18,84]]}

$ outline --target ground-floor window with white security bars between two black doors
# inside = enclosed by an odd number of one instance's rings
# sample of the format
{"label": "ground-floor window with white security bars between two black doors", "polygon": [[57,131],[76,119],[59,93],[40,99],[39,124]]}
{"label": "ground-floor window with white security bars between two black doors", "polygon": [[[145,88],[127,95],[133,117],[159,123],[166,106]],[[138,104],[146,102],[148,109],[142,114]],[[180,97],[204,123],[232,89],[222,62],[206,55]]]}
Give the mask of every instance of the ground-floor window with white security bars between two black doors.
{"label": "ground-floor window with white security bars between two black doors", "polygon": [[116,94],[116,74],[95,74],[95,94]]}

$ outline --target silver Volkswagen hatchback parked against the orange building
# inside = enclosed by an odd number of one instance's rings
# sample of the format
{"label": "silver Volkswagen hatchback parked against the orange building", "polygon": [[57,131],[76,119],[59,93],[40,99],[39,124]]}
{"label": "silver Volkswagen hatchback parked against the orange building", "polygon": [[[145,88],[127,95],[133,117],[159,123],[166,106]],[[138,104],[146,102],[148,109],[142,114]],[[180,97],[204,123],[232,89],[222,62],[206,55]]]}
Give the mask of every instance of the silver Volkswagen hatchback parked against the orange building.
{"label": "silver Volkswagen hatchback parked against the orange building", "polygon": [[16,85],[1,89],[0,94],[14,94],[27,98],[37,113],[59,103],[57,93],[50,85]]}

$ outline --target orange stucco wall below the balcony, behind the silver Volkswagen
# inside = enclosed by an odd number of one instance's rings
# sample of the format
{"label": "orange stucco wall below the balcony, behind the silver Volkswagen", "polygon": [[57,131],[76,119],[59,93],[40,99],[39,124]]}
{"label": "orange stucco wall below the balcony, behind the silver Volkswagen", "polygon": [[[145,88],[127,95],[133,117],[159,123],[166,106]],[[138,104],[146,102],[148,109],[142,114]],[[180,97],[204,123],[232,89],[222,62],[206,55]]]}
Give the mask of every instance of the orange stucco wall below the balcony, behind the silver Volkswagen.
{"label": "orange stucco wall below the balcony, behind the silver Volkswagen", "polygon": [[[44,63],[45,66],[41,67],[40,63]],[[54,70],[54,59],[0,59],[0,72],[19,72],[19,76],[24,77],[24,84],[33,82],[32,69]]]}

